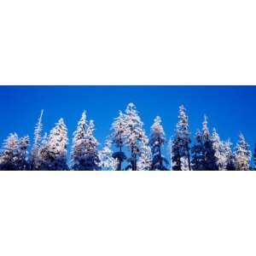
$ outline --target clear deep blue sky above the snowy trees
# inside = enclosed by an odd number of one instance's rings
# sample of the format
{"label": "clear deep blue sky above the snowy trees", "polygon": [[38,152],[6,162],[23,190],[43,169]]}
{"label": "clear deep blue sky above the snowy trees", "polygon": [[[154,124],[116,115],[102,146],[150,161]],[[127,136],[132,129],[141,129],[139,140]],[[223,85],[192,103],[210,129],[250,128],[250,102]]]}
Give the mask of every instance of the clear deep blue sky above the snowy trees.
{"label": "clear deep blue sky above the snowy trees", "polygon": [[95,120],[96,138],[103,143],[119,110],[134,102],[147,134],[154,117],[160,115],[166,136],[171,137],[178,106],[184,104],[193,137],[207,114],[210,128],[216,127],[222,139],[230,137],[236,143],[241,131],[253,149],[255,98],[256,86],[0,86],[0,140],[2,143],[13,131],[32,138],[40,110],[44,109],[44,131],[49,132],[63,117],[71,143],[85,109],[88,118]]}

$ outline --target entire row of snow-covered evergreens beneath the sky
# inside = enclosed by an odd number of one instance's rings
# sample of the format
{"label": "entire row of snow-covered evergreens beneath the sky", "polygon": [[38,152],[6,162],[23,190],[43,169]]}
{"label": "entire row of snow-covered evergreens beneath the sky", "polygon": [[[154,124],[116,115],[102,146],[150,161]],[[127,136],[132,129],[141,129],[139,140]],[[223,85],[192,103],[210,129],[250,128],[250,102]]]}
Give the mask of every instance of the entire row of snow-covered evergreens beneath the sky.
{"label": "entire row of snow-covered evergreens beneath the sky", "polygon": [[[82,113],[77,129],[73,132],[70,161],[67,161],[67,126],[63,119],[55,124],[49,134],[42,136],[43,111],[35,127],[32,148],[28,151],[29,137],[18,137],[11,133],[0,151],[0,170],[35,171],[247,171],[255,170],[250,166],[252,153],[242,134],[236,147],[230,141],[222,141],[216,129],[212,133],[205,117],[201,130],[191,141],[189,121],[185,108],[178,109],[177,125],[174,134],[166,141],[161,119],[157,116],[147,137],[143,122],[133,103],[128,104],[125,112],[119,112],[113,120],[111,133],[104,147],[94,137],[94,122],[87,120]],[[163,154],[166,143],[170,157]]]}

